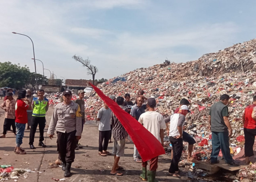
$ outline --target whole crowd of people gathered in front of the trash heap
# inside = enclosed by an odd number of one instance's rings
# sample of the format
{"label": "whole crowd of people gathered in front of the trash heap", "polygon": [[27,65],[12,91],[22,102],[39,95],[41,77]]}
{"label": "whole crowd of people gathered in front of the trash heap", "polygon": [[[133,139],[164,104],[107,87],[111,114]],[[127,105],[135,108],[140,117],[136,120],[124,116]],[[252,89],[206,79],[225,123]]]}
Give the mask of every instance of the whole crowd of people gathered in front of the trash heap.
{"label": "whole crowd of people gathered in front of the trash heap", "polygon": [[[1,94],[1,92],[0,92]],[[27,129],[30,129],[29,146],[30,149],[35,149],[34,137],[39,126],[39,143],[38,146],[46,147],[44,141],[44,128],[46,125],[45,114],[48,111],[48,99],[44,97],[44,90],[38,90],[37,97],[31,94],[30,90],[21,89],[18,91],[18,98],[13,98],[13,92],[7,90],[5,92],[5,100],[1,104],[1,108],[5,111],[5,120],[3,126],[3,135],[0,138],[5,138],[6,132],[11,129],[16,135],[16,145],[14,152],[16,154],[26,154],[26,151],[20,146],[27,124]],[[172,161],[169,168],[169,175],[180,178],[178,162],[180,161],[183,141],[188,142],[188,161],[196,162],[192,157],[193,145],[195,139],[187,132],[183,131],[185,124],[185,116],[190,112],[190,103],[187,99],[180,100],[180,105],[174,111],[174,114],[163,118],[163,116],[155,111],[157,105],[154,98],[146,98],[143,90],[137,93],[135,103],[130,99],[127,93],[122,96],[110,95],[112,102],[129,113],[134,119],[143,125],[153,136],[163,145],[164,129],[167,131],[167,136],[172,144]],[[48,127],[47,134],[52,139],[54,131],[57,132],[57,151],[59,160],[61,161],[62,170],[65,177],[71,176],[71,164],[75,159],[75,150],[80,146],[78,141],[82,136],[83,124],[85,123],[84,113],[84,91],[78,91],[79,98],[75,101],[71,100],[71,90],[63,92],[63,102],[57,104],[54,108],[52,118]],[[213,104],[210,108],[208,121],[210,124],[209,130],[212,135],[212,152],[210,163],[219,163],[218,154],[222,151],[223,158],[228,165],[239,165],[233,160],[230,155],[229,137],[232,135],[232,128],[229,123],[229,113],[227,104],[229,103],[229,95],[223,94],[219,102]],[[144,104],[144,100],[146,103]],[[253,144],[256,136],[256,96],[253,97],[253,103],[245,108],[242,116],[244,123],[245,135],[245,159],[246,163],[250,163],[249,157],[253,156]],[[135,121],[136,121],[135,120]],[[123,167],[118,165],[120,157],[124,156],[125,143],[128,140],[128,134],[116,115],[104,102],[104,106],[98,111],[97,121],[99,122],[99,155],[105,157],[107,155],[114,156],[114,163],[111,175],[124,175],[120,172]],[[169,123],[169,124],[168,124]],[[109,143],[112,143],[112,152],[108,151]],[[142,174],[140,178],[144,181],[156,181],[156,171],[158,167],[158,156],[149,160],[149,169],[147,170],[148,161],[142,161],[140,154],[134,145],[133,160],[137,163],[142,163]]]}

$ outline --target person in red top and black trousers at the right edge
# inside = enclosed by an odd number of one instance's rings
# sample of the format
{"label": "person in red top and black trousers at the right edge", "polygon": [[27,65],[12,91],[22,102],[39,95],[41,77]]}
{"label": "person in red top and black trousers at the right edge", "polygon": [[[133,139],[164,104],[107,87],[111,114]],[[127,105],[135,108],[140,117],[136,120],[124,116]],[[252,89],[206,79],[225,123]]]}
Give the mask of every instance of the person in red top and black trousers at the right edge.
{"label": "person in red top and black trousers at the right edge", "polygon": [[253,156],[253,144],[256,135],[256,95],[253,97],[253,103],[245,108],[243,115],[244,123],[244,154],[245,163],[249,164],[251,161],[249,157]]}

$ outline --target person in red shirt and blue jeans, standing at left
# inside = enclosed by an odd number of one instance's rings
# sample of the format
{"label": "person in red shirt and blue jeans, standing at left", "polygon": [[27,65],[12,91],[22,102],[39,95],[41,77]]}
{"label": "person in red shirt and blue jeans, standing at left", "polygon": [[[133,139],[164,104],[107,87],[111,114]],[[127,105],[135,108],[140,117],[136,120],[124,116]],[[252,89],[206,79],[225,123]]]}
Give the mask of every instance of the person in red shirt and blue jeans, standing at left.
{"label": "person in red shirt and blue jeans, standing at left", "polygon": [[[31,103],[29,99],[26,98],[26,90],[21,89],[18,92],[18,98],[15,105],[15,126],[17,129],[17,136],[16,136],[16,147],[15,147],[15,153],[16,154],[26,154],[24,152],[25,150],[20,148],[20,145],[22,144],[22,139],[24,136],[24,130],[27,123],[27,110],[31,110]],[[24,101],[28,101],[26,104]]]}

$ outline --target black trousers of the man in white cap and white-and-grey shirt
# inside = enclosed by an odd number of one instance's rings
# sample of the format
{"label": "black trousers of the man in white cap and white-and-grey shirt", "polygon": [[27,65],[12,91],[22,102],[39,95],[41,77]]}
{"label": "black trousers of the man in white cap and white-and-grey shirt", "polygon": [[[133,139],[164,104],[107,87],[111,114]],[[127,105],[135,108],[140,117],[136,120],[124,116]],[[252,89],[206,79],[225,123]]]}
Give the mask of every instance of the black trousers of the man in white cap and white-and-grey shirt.
{"label": "black trousers of the man in white cap and white-and-grey shirt", "polygon": [[169,168],[169,173],[175,173],[175,171],[178,171],[178,162],[180,160],[181,154],[182,154],[182,148],[183,148],[183,140],[182,138],[176,138],[176,137],[169,137],[169,140],[173,147],[173,158],[172,162]]}

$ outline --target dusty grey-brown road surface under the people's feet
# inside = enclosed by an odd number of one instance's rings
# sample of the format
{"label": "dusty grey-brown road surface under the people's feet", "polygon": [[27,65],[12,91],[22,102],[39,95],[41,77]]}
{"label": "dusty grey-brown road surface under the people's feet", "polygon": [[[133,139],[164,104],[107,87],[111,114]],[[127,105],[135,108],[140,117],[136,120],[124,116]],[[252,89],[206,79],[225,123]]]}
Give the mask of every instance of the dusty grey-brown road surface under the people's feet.
{"label": "dusty grey-brown road surface under the people's feet", "polygon": [[[3,100],[0,100],[2,103]],[[49,124],[52,116],[53,107],[49,107],[46,113],[46,121]],[[3,132],[4,111],[1,110],[0,114],[0,132]],[[58,158],[56,137],[52,140],[46,134],[45,128],[45,143],[46,148],[38,146],[39,131],[35,134],[34,146],[37,149],[29,148],[29,130],[25,130],[23,144],[21,147],[26,150],[26,155],[17,155],[13,152],[15,147],[15,137],[13,133],[8,132],[6,138],[0,139],[0,165],[12,165],[14,168],[30,169],[32,170],[27,178],[23,175],[20,176],[18,181],[28,182],[46,182],[54,181],[52,178],[63,179],[64,172],[61,167],[50,168],[51,163]],[[84,125],[82,139],[79,141],[82,149],[76,150],[75,162],[72,163],[70,178],[65,178],[65,181],[142,181],[139,178],[142,166],[133,161],[133,143],[126,143],[125,156],[120,158],[119,165],[124,167],[121,172],[123,176],[117,177],[110,175],[110,170],[113,165],[113,155],[102,157],[98,155],[98,124],[95,121],[87,121]],[[112,139],[113,140],[113,139]],[[113,143],[109,144],[108,151],[112,151]],[[189,178],[182,177],[181,179],[167,176],[170,166],[170,156],[159,156],[157,179],[159,181],[187,181]],[[13,181],[13,179],[10,179]]]}

